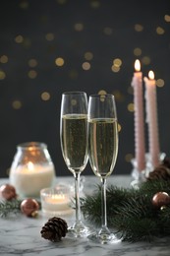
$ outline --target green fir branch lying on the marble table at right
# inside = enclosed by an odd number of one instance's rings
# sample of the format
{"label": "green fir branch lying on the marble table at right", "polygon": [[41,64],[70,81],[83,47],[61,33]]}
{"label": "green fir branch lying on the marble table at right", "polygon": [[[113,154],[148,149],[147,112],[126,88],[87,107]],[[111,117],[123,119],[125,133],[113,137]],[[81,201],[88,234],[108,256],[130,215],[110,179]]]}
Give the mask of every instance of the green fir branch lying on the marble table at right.
{"label": "green fir branch lying on the marble table at right", "polygon": [[[146,181],[138,190],[110,185],[106,193],[108,225],[116,228],[123,240],[131,242],[170,236],[170,206],[155,209],[151,202],[153,195],[160,191],[170,195],[170,180]],[[93,195],[85,196],[83,202],[85,219],[100,226],[100,188]]]}

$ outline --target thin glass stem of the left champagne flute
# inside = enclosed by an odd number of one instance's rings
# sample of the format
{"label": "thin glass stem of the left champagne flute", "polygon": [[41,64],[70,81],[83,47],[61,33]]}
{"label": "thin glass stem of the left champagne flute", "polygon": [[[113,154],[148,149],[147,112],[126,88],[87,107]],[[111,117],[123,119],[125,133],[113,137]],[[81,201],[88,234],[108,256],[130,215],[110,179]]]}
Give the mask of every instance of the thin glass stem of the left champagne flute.
{"label": "thin glass stem of the left champagne flute", "polygon": [[76,223],[81,223],[81,204],[80,204],[80,175],[75,173],[75,200],[76,200]]}

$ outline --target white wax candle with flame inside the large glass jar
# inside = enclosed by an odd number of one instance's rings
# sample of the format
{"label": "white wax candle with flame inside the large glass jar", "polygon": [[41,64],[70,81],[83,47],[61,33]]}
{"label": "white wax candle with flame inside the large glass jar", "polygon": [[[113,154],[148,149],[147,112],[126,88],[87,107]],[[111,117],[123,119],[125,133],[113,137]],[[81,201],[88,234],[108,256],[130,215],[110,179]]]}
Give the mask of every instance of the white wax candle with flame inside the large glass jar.
{"label": "white wax candle with flame inside the large glass jar", "polygon": [[42,188],[52,185],[53,164],[38,164],[28,161],[10,170],[10,183],[16,187],[20,196],[39,196]]}

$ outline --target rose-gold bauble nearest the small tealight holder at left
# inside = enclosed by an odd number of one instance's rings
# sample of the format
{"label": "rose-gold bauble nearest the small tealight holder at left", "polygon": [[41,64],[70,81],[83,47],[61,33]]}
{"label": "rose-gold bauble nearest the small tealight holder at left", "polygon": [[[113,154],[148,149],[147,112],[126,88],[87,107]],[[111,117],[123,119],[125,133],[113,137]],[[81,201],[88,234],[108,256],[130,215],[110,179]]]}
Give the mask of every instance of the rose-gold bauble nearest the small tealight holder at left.
{"label": "rose-gold bauble nearest the small tealight holder at left", "polygon": [[35,217],[38,209],[39,205],[35,199],[28,198],[21,203],[21,211],[28,217]]}

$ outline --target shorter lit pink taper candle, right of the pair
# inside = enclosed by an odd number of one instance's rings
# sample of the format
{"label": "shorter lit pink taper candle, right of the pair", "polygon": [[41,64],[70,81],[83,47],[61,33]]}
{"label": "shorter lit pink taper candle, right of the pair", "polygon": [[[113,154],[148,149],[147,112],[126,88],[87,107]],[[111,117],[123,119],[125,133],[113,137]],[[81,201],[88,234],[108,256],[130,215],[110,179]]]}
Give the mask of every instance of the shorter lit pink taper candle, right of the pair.
{"label": "shorter lit pink taper candle, right of the pair", "polygon": [[145,100],[146,100],[146,122],[148,123],[149,156],[152,167],[159,164],[159,140],[157,123],[156,85],[154,73],[148,72],[148,79],[144,77]]}

